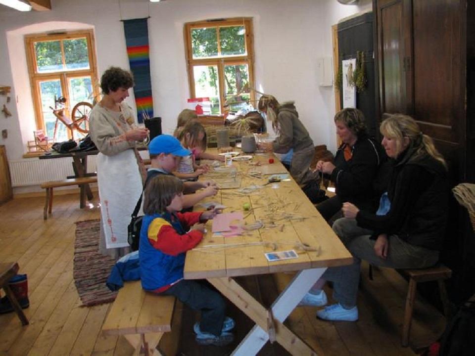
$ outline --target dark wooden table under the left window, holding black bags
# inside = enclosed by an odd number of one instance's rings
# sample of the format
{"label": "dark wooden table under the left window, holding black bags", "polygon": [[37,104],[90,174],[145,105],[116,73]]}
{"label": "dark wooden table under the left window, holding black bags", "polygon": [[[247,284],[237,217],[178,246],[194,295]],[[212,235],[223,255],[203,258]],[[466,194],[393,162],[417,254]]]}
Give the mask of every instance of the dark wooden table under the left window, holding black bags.
{"label": "dark wooden table under the left window, holding black bags", "polygon": [[[72,157],[73,159],[73,170],[74,176],[68,176],[66,178],[79,178],[79,177],[88,177],[88,176],[95,176],[95,173],[87,173],[88,172],[88,156],[96,155],[99,153],[98,150],[91,150],[91,151],[73,151],[68,153],[59,153],[59,152],[51,152],[51,153],[44,153],[41,156],[38,156],[39,159],[54,159],[54,158],[65,158],[65,157]],[[80,185],[80,204],[79,206],[84,208],[86,206],[86,197],[89,200],[94,198],[93,192],[89,184]]]}

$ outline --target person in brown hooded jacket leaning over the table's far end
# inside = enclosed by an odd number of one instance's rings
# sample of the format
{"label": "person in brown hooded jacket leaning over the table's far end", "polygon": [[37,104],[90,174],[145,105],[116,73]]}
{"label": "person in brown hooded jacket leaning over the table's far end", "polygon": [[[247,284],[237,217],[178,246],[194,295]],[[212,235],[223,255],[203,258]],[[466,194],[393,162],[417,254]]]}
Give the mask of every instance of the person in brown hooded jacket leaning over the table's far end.
{"label": "person in brown hooded jacket leaning over the table's far end", "polygon": [[274,142],[259,143],[259,148],[276,153],[287,153],[293,149],[290,174],[295,181],[305,185],[316,179],[317,175],[309,170],[315,154],[313,141],[298,118],[294,102],[280,104],[274,96],[264,94],[259,98],[258,109],[272,123],[277,134]]}

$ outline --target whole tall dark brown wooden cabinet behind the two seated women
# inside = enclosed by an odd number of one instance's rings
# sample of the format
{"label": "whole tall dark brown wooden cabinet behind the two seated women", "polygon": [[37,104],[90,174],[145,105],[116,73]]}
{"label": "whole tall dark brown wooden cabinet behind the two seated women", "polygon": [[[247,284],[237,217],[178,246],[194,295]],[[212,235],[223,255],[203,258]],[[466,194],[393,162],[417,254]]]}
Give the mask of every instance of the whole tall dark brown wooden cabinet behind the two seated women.
{"label": "whole tall dark brown wooden cabinet behind the two seated women", "polygon": [[375,0],[380,112],[413,116],[465,176],[465,0]]}

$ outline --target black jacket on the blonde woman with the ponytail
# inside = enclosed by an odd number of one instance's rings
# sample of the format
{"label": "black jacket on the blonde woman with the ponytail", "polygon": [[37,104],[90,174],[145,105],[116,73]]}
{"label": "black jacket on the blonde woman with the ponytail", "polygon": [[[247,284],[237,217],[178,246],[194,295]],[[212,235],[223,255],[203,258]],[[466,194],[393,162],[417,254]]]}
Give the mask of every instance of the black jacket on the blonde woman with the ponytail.
{"label": "black jacket on the blonde woman with the ponytail", "polygon": [[447,220],[449,186],[445,167],[408,148],[393,162],[387,215],[359,211],[356,221],[376,234],[395,234],[411,245],[440,250]]}

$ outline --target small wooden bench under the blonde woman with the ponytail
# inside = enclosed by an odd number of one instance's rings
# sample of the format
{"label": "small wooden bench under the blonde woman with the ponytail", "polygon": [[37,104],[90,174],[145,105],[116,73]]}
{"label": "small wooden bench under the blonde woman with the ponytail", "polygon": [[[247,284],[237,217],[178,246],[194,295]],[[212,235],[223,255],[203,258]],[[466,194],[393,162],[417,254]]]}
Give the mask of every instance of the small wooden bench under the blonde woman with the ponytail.
{"label": "small wooden bench under the blonde woman with the ponytail", "polygon": [[445,290],[444,280],[452,276],[452,270],[441,264],[423,268],[423,269],[399,269],[399,271],[409,277],[409,287],[406,297],[406,308],[404,310],[404,323],[402,326],[402,346],[409,345],[409,332],[411,330],[412,312],[414,309],[414,300],[416,298],[416,288],[418,282],[437,281],[439,286],[440,299],[444,308],[444,314],[447,318],[450,314],[450,307]]}

